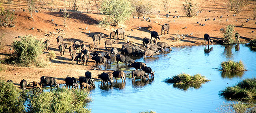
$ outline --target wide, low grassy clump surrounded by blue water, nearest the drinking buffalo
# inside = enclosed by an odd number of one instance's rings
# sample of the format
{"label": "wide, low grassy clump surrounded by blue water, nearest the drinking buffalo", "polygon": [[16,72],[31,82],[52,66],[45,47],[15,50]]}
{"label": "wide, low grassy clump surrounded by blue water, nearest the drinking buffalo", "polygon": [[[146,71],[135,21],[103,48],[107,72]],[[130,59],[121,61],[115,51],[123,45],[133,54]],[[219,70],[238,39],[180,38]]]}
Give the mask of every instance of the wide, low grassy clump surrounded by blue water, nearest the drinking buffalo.
{"label": "wide, low grassy clump surrounded by blue water, nearest the drinking buffalo", "polygon": [[191,76],[186,73],[182,73],[173,77],[168,77],[164,80],[167,83],[173,83],[174,87],[179,89],[187,90],[189,87],[199,88],[202,83],[208,82],[204,76],[196,74]]}

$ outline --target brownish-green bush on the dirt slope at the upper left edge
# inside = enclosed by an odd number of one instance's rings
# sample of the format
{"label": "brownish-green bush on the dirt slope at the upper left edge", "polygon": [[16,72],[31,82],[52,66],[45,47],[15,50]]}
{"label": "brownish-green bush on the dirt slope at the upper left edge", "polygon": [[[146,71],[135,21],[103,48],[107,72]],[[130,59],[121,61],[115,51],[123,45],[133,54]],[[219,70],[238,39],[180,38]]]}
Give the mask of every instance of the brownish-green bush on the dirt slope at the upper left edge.
{"label": "brownish-green bush on the dirt slope at the upper left edge", "polygon": [[14,27],[14,12],[9,9],[4,10],[4,7],[0,3],[0,27]]}

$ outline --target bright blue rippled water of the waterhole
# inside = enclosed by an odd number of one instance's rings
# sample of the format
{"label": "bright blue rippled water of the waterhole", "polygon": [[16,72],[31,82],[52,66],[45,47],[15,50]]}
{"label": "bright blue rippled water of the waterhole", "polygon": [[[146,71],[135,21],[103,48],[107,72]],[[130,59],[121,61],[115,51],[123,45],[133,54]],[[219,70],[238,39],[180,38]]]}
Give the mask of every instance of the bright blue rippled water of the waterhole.
{"label": "bright blue rippled water of the waterhole", "polygon": [[[93,113],[138,113],[154,110],[157,113],[215,113],[223,102],[229,103],[219,96],[225,87],[234,86],[245,78],[256,77],[256,52],[240,44],[239,50],[234,46],[211,45],[187,46],[173,48],[173,51],[161,53],[154,57],[139,57],[135,61],[145,62],[155,71],[153,80],[135,80],[126,78],[114,82],[113,87],[101,87],[95,82],[96,88],[91,90],[93,102],[89,109]],[[236,49],[236,50],[235,50]],[[243,61],[249,71],[233,75],[223,74],[220,68],[223,61]],[[124,64],[122,64],[124,65]],[[103,66],[104,67],[104,66]],[[111,66],[115,70],[116,66]],[[134,68],[130,68],[134,69]],[[200,88],[179,89],[173,84],[163,82],[165,78],[180,73],[197,73],[211,80]]]}

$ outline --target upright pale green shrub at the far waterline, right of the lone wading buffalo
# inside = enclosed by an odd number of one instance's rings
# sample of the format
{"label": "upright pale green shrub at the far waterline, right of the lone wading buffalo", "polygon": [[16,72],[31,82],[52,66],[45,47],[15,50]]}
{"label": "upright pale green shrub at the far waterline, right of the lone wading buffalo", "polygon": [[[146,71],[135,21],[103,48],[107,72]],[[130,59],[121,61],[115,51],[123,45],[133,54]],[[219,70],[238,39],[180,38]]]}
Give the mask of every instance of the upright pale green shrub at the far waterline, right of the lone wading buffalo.
{"label": "upright pale green shrub at the far waterline, right of the lone wading buffalo", "polygon": [[234,27],[235,27],[235,25],[226,26],[226,30],[223,33],[223,35],[224,35],[223,43],[224,44],[234,44],[235,43],[235,40],[233,39]]}

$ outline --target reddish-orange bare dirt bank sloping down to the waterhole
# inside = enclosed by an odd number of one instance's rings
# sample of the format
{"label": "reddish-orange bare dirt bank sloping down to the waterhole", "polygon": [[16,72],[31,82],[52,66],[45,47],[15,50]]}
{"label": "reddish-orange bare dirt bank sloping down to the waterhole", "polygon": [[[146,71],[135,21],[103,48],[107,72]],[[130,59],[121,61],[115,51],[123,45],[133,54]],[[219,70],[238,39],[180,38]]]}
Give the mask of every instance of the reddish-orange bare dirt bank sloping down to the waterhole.
{"label": "reddish-orange bare dirt bank sloping down to the waterhole", "polygon": [[[41,76],[50,76],[55,77],[57,82],[60,84],[65,83],[65,78],[75,77],[79,78],[84,76],[85,71],[91,71],[93,76],[96,78],[98,74],[105,72],[104,70],[93,70],[96,63],[91,59],[89,60],[88,66],[83,66],[82,64],[71,64],[71,57],[69,55],[68,49],[65,50],[65,55],[60,56],[59,49],[57,46],[56,38],[58,36],[63,36],[65,43],[67,40],[78,40],[81,44],[86,44],[87,49],[88,45],[93,43],[92,35],[96,33],[104,33],[106,38],[102,38],[101,44],[97,45],[100,51],[104,51],[104,41],[109,40],[109,33],[115,31],[117,28],[125,27],[126,37],[125,40],[115,40],[117,44],[113,44],[112,47],[116,47],[119,50],[122,47],[122,44],[125,44],[127,39],[130,39],[132,44],[137,46],[142,46],[143,38],[150,38],[150,31],[157,31],[161,34],[161,26],[165,23],[170,24],[169,34],[162,35],[160,37],[161,42],[166,42],[172,47],[180,46],[198,46],[204,45],[205,33],[208,33],[211,38],[215,41],[220,40],[223,37],[223,33],[220,31],[221,28],[224,28],[226,25],[233,24],[236,25],[235,31],[240,35],[241,42],[248,42],[251,39],[256,38],[256,34],[251,33],[256,29],[256,20],[252,20],[253,10],[256,8],[256,1],[249,1],[241,11],[241,13],[236,14],[232,11],[229,11],[226,8],[226,0],[192,0],[198,4],[198,10],[201,13],[198,13],[198,16],[187,17],[182,12],[182,4],[185,3],[185,0],[172,0],[170,5],[169,18],[166,18],[166,14],[169,12],[163,11],[163,4],[159,2],[161,0],[145,0],[150,4],[154,4],[155,10],[160,13],[150,17],[151,22],[146,22],[142,17],[139,19],[134,19],[132,16],[129,20],[126,21],[126,24],[121,24],[120,26],[108,28],[101,28],[98,26],[98,23],[104,15],[96,14],[97,11],[93,13],[74,13],[70,12],[70,17],[67,20],[67,27],[63,26],[63,12],[52,12],[52,8],[63,9],[63,1],[54,0],[53,5],[46,5],[45,8],[39,7],[39,2],[35,2],[36,9],[39,13],[33,13],[34,20],[30,20],[30,14],[27,11],[25,0],[12,0],[11,4],[6,4],[7,0],[2,4],[5,8],[10,8],[15,10],[15,27],[13,28],[0,28],[0,35],[4,34],[2,38],[3,47],[0,50],[0,57],[6,58],[13,51],[10,50],[11,44],[15,40],[20,40],[18,36],[33,35],[36,36],[39,40],[50,40],[50,50],[54,51],[56,54],[56,59],[48,63],[46,68],[37,68],[37,67],[19,67],[10,64],[3,64],[4,70],[0,72],[0,78],[4,80],[13,80],[15,85],[19,85],[19,82],[22,79],[27,80],[28,82],[37,81],[40,82]],[[50,0],[45,0],[50,2]],[[67,7],[70,7],[72,4],[70,1],[67,1]],[[80,4],[82,7],[80,11],[85,12],[85,6]],[[22,11],[26,9],[26,11]],[[174,13],[177,11],[176,13]],[[236,16],[233,16],[236,14]],[[180,18],[173,18],[173,16],[180,15]],[[223,15],[223,18],[220,16]],[[210,20],[205,21],[205,19],[210,18]],[[216,18],[213,21],[213,18]],[[228,21],[226,19],[228,18]],[[249,22],[245,22],[246,19],[251,18]],[[51,20],[54,21],[51,21]],[[175,20],[175,22],[174,22]],[[200,26],[196,24],[200,22],[205,24],[205,26]],[[57,25],[57,26],[56,26]],[[152,26],[151,29],[147,29],[148,26]],[[32,27],[34,29],[32,30]],[[85,28],[88,27],[87,30]],[[141,29],[139,29],[141,27]],[[187,27],[187,28],[185,28]],[[58,31],[60,31],[58,33]],[[132,31],[133,30],[133,31]],[[91,33],[89,33],[91,31]],[[46,34],[57,33],[55,35],[46,36]],[[192,33],[192,34],[191,34]],[[184,34],[188,35],[180,41],[173,40],[173,34]],[[48,54],[47,51],[44,51],[45,54]]]}

